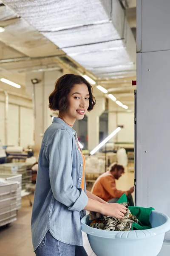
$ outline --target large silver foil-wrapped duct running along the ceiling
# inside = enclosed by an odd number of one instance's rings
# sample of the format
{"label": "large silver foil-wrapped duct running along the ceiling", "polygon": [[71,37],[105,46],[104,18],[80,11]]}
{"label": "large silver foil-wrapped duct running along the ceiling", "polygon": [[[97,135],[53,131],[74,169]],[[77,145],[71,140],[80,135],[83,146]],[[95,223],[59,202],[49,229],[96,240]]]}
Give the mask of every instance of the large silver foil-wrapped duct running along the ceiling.
{"label": "large silver foil-wrapped duct running along the ceiling", "polygon": [[136,72],[136,42],[119,0],[3,2],[94,75]]}

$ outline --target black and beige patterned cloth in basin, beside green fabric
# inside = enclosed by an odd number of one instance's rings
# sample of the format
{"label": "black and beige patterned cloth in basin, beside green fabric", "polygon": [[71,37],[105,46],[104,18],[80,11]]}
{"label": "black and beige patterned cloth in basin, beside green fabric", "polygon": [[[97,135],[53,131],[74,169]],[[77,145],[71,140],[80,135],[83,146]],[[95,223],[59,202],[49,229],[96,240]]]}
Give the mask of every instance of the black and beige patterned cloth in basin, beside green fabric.
{"label": "black and beige patterned cloth in basin, beside green fabric", "polygon": [[90,212],[89,220],[91,221],[90,226],[110,231],[130,231],[132,230],[132,223],[138,223],[136,216],[133,216],[128,209],[129,203],[122,203],[127,208],[127,212],[123,219],[105,216],[99,212]]}

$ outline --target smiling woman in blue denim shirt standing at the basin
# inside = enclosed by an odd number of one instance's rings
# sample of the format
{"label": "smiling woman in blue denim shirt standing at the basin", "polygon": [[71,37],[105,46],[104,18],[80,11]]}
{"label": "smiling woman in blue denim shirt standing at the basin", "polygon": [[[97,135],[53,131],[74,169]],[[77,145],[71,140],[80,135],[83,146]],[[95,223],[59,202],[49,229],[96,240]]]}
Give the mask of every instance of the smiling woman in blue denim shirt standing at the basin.
{"label": "smiling woman in blue denim shirt standing at the basin", "polygon": [[96,104],[91,84],[82,76],[60,77],[49,96],[59,111],[42,138],[31,218],[37,256],[87,256],[80,219],[85,210],[122,218],[126,208],[108,204],[86,191],[85,157],[72,128]]}

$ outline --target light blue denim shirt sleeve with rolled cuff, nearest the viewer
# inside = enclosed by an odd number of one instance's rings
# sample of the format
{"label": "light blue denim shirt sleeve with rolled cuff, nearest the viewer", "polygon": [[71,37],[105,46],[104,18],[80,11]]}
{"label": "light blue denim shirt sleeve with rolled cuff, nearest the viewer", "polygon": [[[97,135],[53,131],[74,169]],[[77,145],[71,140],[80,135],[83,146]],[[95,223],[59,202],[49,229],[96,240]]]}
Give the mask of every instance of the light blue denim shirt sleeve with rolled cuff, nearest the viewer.
{"label": "light blue denim shirt sleeve with rolled cuff, nearest the viewer", "polygon": [[49,177],[54,198],[68,207],[68,210],[80,212],[88,204],[83,189],[73,186],[72,138],[68,131],[58,130],[46,147],[49,159]]}

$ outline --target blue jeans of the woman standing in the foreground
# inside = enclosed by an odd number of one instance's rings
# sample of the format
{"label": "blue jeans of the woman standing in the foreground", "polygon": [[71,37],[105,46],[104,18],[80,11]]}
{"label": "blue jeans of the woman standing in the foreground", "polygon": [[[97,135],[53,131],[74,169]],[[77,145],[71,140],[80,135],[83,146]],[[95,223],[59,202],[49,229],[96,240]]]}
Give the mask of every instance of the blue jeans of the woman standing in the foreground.
{"label": "blue jeans of the woman standing in the foreground", "polygon": [[35,250],[36,256],[88,256],[83,246],[64,244],[48,231]]}

